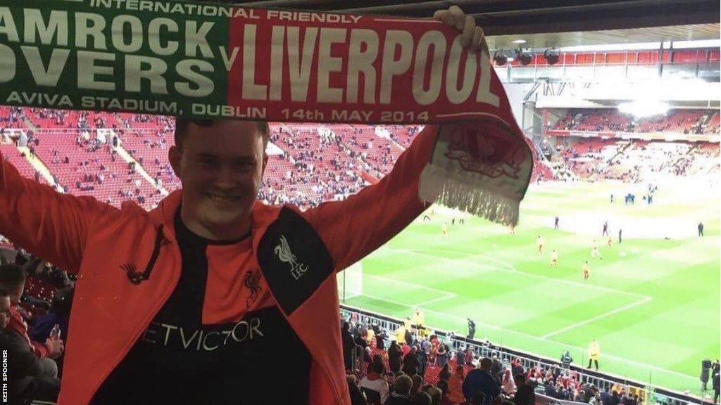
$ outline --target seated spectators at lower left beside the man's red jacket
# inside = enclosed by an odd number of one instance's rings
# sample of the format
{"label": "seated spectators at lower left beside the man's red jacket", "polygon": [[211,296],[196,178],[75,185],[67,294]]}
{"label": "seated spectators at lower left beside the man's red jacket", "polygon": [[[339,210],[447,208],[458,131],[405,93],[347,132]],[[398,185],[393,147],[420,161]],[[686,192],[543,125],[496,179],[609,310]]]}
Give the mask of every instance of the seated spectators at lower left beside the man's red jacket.
{"label": "seated spectators at lower left beside the man's red jacket", "polygon": [[[19,249],[0,254],[0,345],[12,359],[12,404],[56,401],[74,278]],[[7,317],[6,317],[7,316]]]}

